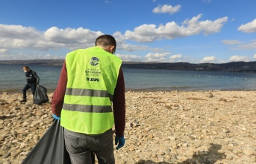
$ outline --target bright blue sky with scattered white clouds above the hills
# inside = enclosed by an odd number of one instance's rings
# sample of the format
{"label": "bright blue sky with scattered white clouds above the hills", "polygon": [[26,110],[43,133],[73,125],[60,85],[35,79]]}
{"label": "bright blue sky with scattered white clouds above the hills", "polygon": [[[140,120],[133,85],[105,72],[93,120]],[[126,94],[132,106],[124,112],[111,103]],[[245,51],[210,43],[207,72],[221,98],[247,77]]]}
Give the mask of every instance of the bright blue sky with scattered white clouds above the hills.
{"label": "bright blue sky with scattered white clouds above the hills", "polygon": [[252,62],[255,7],[255,0],[0,0],[0,60],[65,59],[110,34],[125,62]]}

